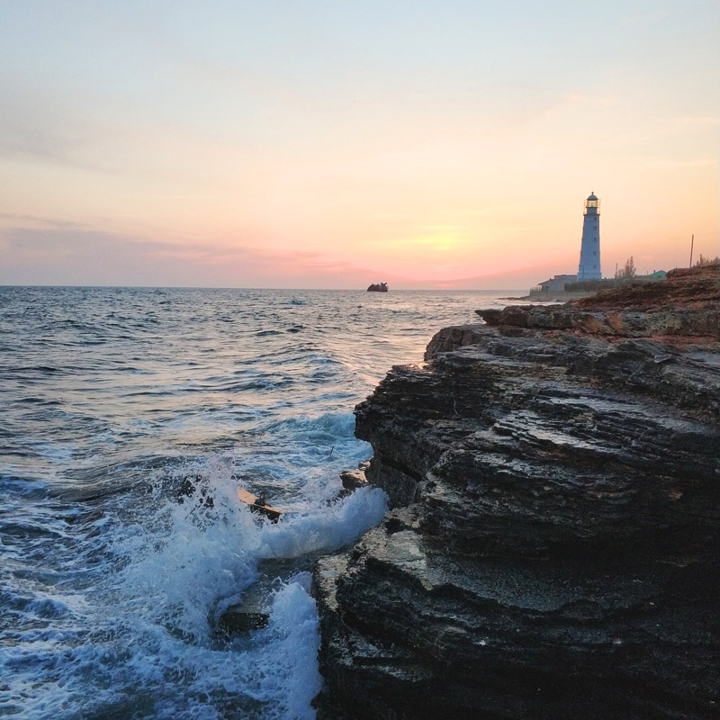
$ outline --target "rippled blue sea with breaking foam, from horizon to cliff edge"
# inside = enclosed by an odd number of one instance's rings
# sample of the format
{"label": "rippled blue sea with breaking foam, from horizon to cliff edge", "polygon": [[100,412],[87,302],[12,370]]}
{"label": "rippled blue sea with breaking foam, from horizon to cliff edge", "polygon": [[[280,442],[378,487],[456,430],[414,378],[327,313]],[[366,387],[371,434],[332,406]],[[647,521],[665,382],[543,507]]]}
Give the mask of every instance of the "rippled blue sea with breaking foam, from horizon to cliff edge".
{"label": "rippled blue sea with breaking foam, from horizon to cliff edge", "polygon": [[0,287],[0,716],[313,718],[313,563],[386,510],[353,409],[508,294]]}

